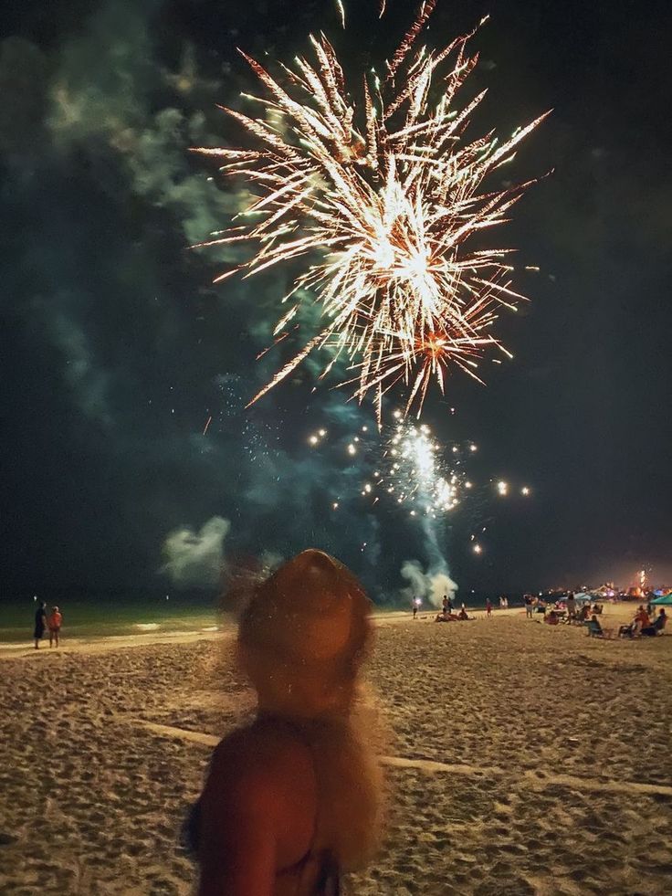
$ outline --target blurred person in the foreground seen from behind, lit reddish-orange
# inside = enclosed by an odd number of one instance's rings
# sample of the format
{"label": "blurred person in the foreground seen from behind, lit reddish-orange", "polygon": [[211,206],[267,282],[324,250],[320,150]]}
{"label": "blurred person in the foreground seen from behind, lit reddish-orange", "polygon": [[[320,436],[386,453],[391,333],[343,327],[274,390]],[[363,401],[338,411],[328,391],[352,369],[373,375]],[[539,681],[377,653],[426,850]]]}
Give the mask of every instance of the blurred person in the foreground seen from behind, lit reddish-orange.
{"label": "blurred person in the foreground seen from behind, lit reddish-orange", "polygon": [[331,896],[379,842],[379,765],[356,709],[371,605],[304,551],[257,585],[237,656],[257,718],[215,749],[193,815],[199,896]]}

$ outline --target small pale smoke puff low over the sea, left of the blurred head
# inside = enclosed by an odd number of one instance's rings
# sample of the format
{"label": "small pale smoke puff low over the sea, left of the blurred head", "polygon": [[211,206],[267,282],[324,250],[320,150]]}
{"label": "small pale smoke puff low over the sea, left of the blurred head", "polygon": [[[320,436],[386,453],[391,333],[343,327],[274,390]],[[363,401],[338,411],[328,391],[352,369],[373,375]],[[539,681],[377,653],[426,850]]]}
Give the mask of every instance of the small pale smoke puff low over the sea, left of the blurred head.
{"label": "small pale smoke puff low over the sea, left of the blurred head", "polygon": [[224,565],[224,540],[231,523],[214,516],[194,532],[188,526],[171,532],[163,543],[166,558],[161,572],[179,588],[207,588],[216,585]]}

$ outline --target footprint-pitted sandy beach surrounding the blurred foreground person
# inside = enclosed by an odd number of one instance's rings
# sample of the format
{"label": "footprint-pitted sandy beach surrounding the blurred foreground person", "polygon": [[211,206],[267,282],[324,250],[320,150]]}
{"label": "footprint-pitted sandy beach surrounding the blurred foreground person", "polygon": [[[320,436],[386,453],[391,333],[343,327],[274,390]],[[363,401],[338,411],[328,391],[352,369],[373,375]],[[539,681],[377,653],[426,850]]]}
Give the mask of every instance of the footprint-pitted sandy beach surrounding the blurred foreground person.
{"label": "footprint-pitted sandy beach surrounding the blurred foreground person", "polygon": [[[607,606],[616,626],[634,607]],[[233,631],[0,656],[0,891],[187,894],[179,830],[212,746],[253,710]],[[373,894],[663,894],[672,638],[599,641],[524,612],[378,629],[392,730]]]}

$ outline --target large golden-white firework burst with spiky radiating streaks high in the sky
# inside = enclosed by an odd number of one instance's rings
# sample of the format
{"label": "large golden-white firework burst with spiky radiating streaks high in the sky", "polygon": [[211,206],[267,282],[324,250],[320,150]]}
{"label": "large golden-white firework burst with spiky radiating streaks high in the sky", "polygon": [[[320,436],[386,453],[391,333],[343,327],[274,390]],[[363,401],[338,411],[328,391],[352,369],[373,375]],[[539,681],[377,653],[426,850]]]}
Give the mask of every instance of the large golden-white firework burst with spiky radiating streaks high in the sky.
{"label": "large golden-white firework burst with spiky radiating streaks high in the sky", "polygon": [[352,92],[323,35],[310,38],[313,59],[280,65],[278,78],[243,54],[264,89],[247,99],[262,113],[222,108],[250,147],[196,150],[255,193],[231,227],[201,244],[254,247],[217,281],[301,259],[276,343],[302,336],[303,303],[320,305],[316,332],[253,402],[325,349],[322,375],[344,361],[343,379],[360,401],[373,395],[379,422],[393,386],[405,393],[404,413],[416,406],[419,416],[433,381],[443,392],[453,367],[480,380],[479,359],[502,348],[492,332],[498,311],[523,297],[510,250],[473,248],[473,237],[503,223],[530,185],[493,191],[485,182],[545,116],[502,142],[494,132],[467,137],[486,95],[459,101],[478,62],[467,52],[473,32],[441,50],[419,46],[435,6],[425,0],[381,76],[367,72]]}

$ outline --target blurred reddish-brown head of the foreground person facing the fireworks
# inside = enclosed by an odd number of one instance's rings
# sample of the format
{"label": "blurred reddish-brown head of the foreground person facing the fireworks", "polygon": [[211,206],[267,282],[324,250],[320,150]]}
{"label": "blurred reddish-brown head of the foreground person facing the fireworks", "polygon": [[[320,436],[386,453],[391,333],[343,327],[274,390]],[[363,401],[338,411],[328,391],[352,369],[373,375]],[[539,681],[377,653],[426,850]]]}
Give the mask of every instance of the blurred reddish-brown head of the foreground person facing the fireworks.
{"label": "blurred reddish-brown head of the foreground person facing the fireworks", "polygon": [[347,712],[371,641],[362,585],[327,553],[299,553],[254,589],[238,655],[259,708],[299,718]]}

